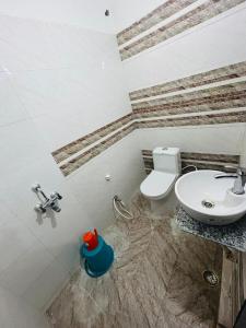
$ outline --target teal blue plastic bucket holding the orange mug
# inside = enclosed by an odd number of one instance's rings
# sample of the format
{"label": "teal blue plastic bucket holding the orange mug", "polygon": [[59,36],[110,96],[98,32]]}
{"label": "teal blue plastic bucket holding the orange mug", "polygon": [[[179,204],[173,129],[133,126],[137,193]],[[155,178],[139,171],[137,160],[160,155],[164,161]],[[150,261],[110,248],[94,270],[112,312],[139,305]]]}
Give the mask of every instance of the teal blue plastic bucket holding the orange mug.
{"label": "teal blue plastic bucket holding the orange mug", "polygon": [[87,250],[86,245],[83,244],[80,255],[84,259],[86,273],[92,278],[97,278],[106,273],[114,261],[113,248],[101,236],[98,236],[98,245],[95,249]]}

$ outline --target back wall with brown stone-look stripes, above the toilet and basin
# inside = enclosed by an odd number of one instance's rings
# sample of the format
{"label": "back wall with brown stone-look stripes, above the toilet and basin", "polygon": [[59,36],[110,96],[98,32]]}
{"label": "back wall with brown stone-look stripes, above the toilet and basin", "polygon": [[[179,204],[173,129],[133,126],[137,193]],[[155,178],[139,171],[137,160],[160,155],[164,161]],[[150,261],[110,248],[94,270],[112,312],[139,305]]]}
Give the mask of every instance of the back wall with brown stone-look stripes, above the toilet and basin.
{"label": "back wall with brown stone-look stripes, above the toilet and basin", "polygon": [[163,1],[132,13],[117,37],[140,148],[243,154],[245,1]]}

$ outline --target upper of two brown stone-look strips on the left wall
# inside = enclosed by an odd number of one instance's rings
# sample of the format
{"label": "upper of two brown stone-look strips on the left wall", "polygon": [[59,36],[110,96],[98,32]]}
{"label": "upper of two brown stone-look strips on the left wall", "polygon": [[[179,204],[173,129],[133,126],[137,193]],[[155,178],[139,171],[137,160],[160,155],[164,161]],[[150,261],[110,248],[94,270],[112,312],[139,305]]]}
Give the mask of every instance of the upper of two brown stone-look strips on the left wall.
{"label": "upper of two brown stone-look strips on the left wall", "polygon": [[67,160],[71,155],[82,151],[84,148],[91,145],[92,143],[98,141],[99,139],[106,137],[107,134],[114,132],[115,130],[124,127],[126,124],[129,124],[132,119],[132,114],[120,117],[119,119],[89,133],[75,141],[72,141],[65,147],[52,152],[52,156],[57,163]]}

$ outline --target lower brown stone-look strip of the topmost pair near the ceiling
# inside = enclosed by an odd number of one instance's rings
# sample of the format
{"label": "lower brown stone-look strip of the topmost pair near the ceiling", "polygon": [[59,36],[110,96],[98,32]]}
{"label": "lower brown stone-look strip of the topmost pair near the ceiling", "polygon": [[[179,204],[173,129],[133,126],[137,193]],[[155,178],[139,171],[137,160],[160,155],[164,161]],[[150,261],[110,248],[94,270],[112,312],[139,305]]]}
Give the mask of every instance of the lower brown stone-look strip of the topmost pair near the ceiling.
{"label": "lower brown stone-look strip of the topmost pair near the ceiling", "polygon": [[197,26],[243,2],[245,2],[245,0],[210,0],[181,15],[180,17],[172,21],[171,23],[165,24],[154,32],[119,49],[121,59],[128,59],[137,54],[152,48],[157,44],[163,43],[194,26]]}

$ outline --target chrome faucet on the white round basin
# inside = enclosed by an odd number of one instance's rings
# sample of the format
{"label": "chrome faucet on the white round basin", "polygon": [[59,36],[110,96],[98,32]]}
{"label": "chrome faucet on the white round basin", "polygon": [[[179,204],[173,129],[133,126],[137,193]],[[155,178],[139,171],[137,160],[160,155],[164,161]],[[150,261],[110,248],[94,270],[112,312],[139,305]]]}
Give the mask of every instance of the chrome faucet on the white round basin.
{"label": "chrome faucet on the white round basin", "polygon": [[246,183],[246,175],[242,167],[225,166],[227,168],[236,168],[236,173],[221,173],[214,176],[215,179],[219,178],[235,178],[232,192],[236,195],[245,194],[244,186]]}

